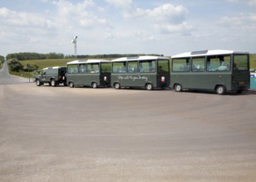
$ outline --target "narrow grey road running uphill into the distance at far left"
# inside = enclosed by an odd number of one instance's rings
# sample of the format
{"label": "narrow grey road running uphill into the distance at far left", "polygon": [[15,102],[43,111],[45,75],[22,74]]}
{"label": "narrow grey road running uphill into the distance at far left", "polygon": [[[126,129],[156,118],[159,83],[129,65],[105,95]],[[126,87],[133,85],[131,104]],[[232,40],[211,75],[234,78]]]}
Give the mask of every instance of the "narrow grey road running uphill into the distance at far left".
{"label": "narrow grey road running uphill into the distance at far left", "polygon": [[0,69],[0,84],[20,84],[28,81],[28,79],[10,75],[8,73],[7,61],[4,62],[2,69]]}

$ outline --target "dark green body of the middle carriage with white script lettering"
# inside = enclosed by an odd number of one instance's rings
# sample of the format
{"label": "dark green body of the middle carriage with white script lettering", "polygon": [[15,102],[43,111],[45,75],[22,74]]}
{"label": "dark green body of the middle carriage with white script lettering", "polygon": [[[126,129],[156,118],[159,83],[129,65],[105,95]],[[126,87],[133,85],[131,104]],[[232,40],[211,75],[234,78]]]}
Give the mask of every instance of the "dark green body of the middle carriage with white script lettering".
{"label": "dark green body of the middle carriage with white script lettering", "polygon": [[[146,89],[146,85],[151,84],[155,89],[163,89],[170,83],[169,62],[166,58],[146,56],[115,60],[112,63],[111,85]],[[143,70],[140,70],[141,65]]]}

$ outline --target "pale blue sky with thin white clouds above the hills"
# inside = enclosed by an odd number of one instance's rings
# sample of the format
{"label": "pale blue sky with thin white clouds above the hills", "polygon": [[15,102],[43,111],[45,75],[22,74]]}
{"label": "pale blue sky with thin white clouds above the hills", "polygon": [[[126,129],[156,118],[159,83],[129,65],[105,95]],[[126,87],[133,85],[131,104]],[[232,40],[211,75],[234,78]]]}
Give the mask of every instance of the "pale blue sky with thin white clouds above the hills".
{"label": "pale blue sky with thin white clouds above the hills", "polygon": [[0,55],[256,53],[256,0],[0,1]]}

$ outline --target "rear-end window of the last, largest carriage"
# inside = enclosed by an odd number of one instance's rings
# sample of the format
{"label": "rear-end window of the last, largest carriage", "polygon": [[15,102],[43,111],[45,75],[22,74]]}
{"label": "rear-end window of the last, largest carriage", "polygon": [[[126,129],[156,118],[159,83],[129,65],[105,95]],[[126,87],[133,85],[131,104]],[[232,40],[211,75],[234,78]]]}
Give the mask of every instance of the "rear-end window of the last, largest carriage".
{"label": "rear-end window of the last, largest carriage", "polygon": [[249,55],[234,55],[234,70],[248,70]]}

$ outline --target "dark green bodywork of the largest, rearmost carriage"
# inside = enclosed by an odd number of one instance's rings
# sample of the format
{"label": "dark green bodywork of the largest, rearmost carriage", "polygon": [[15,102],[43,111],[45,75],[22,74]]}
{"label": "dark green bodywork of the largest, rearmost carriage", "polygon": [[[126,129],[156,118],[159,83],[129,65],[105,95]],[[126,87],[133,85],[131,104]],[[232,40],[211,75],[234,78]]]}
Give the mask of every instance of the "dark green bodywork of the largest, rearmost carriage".
{"label": "dark green bodywork of the largest, rearmost carriage", "polygon": [[[202,55],[199,56],[202,57]],[[215,56],[217,60],[219,55]],[[226,89],[226,92],[241,92],[245,89],[249,89],[249,55],[231,54],[224,56],[229,57],[228,69],[227,67],[224,69],[223,65],[218,65],[219,69],[211,69],[207,67],[208,62],[205,61],[205,65],[198,67],[203,67],[203,69],[199,69],[198,71],[193,70],[193,65],[191,63],[192,58],[185,57],[185,59],[187,59],[186,70],[180,68],[179,71],[179,66],[172,66],[172,70],[175,71],[172,71],[170,74],[170,87],[175,89],[175,85],[180,84],[182,89],[214,91],[219,85],[222,85]],[[220,55],[219,57],[223,57],[223,55]],[[246,59],[242,60],[241,57]],[[182,58],[175,59],[182,60]],[[174,64],[175,59],[172,59],[172,64]],[[193,59],[197,59],[197,57],[193,57]],[[209,60],[209,57],[205,56],[205,60]],[[177,62],[178,61],[179,60],[177,60]],[[214,64],[219,64],[218,61],[216,61]],[[236,64],[240,64],[238,69]]]}

